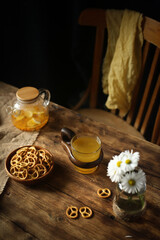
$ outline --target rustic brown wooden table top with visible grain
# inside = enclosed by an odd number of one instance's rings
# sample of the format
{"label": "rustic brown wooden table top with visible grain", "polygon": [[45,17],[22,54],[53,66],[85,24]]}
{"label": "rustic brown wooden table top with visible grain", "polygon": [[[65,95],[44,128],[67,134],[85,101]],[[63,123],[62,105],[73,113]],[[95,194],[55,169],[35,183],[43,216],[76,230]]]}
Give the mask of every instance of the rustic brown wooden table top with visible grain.
{"label": "rustic brown wooden table top with visible grain", "polygon": [[[60,130],[95,133],[101,141],[104,158],[90,175],[77,173],[60,141]],[[0,196],[0,239],[114,240],[160,239],[160,147],[145,140],[117,132],[57,104],[50,104],[50,119],[34,143],[50,150],[55,167],[41,184],[24,186],[9,179]],[[133,149],[141,155],[140,166],[147,175],[147,210],[136,222],[115,218],[112,210],[115,184],[106,176],[109,160],[121,151]],[[101,199],[98,188],[108,187],[112,195]],[[70,205],[89,206],[90,219],[67,218]]]}

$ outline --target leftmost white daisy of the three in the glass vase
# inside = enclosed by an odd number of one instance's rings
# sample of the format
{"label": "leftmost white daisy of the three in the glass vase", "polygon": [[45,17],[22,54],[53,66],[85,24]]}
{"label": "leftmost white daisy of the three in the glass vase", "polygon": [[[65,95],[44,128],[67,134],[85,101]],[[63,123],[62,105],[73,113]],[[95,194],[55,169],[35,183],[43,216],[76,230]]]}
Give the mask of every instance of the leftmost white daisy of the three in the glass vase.
{"label": "leftmost white daisy of the three in the glass vase", "polygon": [[114,156],[113,160],[110,160],[107,169],[107,176],[110,177],[112,182],[119,182],[124,171],[121,168],[122,161],[119,156]]}

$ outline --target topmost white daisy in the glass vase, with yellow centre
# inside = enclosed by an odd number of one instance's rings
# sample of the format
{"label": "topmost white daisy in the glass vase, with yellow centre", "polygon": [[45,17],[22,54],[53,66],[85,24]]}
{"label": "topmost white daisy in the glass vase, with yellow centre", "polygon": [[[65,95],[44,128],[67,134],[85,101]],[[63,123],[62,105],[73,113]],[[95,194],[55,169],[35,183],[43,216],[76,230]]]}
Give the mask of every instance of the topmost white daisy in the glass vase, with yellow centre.
{"label": "topmost white daisy in the glass vase, with yellow centre", "polygon": [[140,158],[139,152],[134,152],[131,150],[126,150],[120,153],[119,158],[122,161],[122,169],[124,172],[132,171],[138,166],[138,161]]}

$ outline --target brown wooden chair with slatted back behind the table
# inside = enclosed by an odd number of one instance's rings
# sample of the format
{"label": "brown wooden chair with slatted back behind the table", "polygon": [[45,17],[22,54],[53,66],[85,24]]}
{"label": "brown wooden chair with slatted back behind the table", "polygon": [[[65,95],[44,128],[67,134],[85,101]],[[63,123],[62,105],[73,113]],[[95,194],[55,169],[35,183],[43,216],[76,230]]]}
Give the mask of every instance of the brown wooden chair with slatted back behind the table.
{"label": "brown wooden chair with slatted back behind the table", "polygon": [[[79,24],[95,27],[96,36],[88,88],[73,109],[126,133],[140,138],[147,136],[147,140],[160,145],[160,22],[144,17],[140,79],[135,87],[131,109],[122,119],[119,110],[108,112],[97,108],[104,34],[107,28],[105,14],[106,10],[103,9],[86,9],[80,14]],[[89,108],[82,108],[87,99]]]}

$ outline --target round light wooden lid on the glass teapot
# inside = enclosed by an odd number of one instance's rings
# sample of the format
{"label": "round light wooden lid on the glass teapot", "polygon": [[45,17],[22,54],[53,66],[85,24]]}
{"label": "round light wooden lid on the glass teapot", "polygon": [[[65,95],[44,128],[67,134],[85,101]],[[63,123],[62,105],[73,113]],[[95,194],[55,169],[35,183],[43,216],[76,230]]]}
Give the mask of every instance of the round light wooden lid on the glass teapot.
{"label": "round light wooden lid on the glass teapot", "polygon": [[39,96],[39,91],[34,87],[23,87],[18,89],[16,97],[20,101],[32,101]]}

